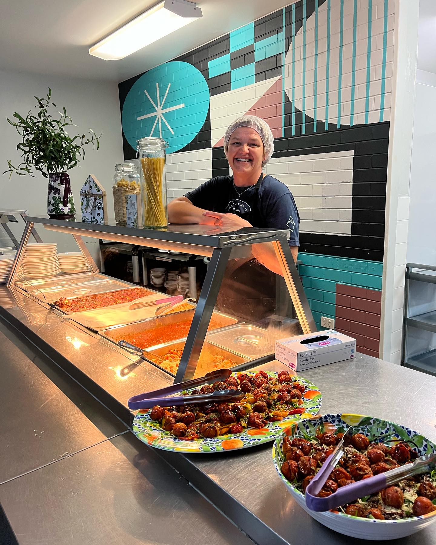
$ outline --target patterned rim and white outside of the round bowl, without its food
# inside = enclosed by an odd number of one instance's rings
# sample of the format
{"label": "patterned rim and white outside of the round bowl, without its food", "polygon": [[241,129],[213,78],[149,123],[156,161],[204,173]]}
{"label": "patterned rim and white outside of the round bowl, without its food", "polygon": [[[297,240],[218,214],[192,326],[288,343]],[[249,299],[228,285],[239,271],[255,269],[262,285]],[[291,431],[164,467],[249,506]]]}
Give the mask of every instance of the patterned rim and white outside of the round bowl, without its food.
{"label": "patterned rim and white outside of the round bowl, without its food", "polygon": [[306,506],[304,494],[295,488],[280,471],[285,461],[282,445],[286,435],[289,437],[306,436],[307,438],[307,435],[315,435],[316,428],[322,424],[324,424],[326,432],[335,432],[339,428],[353,426],[353,433],[362,433],[370,441],[371,438],[389,434],[389,439],[380,439],[380,441],[383,441],[388,446],[393,446],[402,440],[410,440],[416,445],[414,448],[419,452],[420,456],[436,451],[436,445],[423,435],[404,426],[372,416],[345,413],[328,414],[314,416],[303,422],[295,423],[295,425],[290,426],[277,437],[272,447],[272,459],[280,479],[286,485],[292,497],[311,517],[324,524],[324,526],[340,532],[340,534],[373,541],[384,541],[409,536],[436,521],[436,511],[420,517],[408,517],[400,520],[377,520],[375,518],[354,517],[336,510],[325,512],[311,511]]}

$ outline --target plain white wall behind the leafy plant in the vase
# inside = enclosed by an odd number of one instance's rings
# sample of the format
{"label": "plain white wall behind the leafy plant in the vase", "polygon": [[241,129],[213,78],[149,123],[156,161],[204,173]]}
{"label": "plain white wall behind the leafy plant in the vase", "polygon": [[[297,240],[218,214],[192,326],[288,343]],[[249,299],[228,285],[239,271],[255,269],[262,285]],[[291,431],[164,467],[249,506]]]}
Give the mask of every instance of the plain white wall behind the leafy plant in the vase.
{"label": "plain white wall behind the leafy plant in the vase", "polygon": [[[86,134],[88,128],[98,134],[102,132],[100,149],[94,152],[87,146],[85,159],[69,171],[72,193],[80,214],[79,192],[88,174],[94,174],[107,192],[108,215],[113,217],[112,177],[114,165],[123,161],[121,120],[119,115],[118,85],[115,82],[96,82],[57,76],[40,76],[25,72],[0,70],[0,209],[27,209],[29,214],[47,214],[48,180],[39,173],[36,178],[1,173],[8,168],[7,160],[17,166],[21,162],[16,145],[20,135],[6,118],[12,119],[14,112],[25,117],[36,101],[34,95],[44,97],[47,88],[52,90],[52,99],[61,110],[72,117],[77,127],[70,134]],[[49,232],[42,233],[43,239],[53,240]],[[68,243],[63,243],[68,240]],[[59,250],[74,249],[74,240],[68,235],[58,235]],[[71,243],[72,241],[72,243]],[[98,241],[88,239],[87,244],[96,255]]]}

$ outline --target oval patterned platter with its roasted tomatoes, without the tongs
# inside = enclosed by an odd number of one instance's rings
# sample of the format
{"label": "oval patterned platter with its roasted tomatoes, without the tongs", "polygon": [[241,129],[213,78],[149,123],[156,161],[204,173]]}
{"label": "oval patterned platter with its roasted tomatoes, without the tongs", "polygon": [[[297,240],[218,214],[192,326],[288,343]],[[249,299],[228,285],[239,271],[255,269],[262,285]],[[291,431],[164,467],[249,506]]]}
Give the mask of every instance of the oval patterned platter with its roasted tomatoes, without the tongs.
{"label": "oval patterned platter with its roasted tomatoes, without the tongs", "polygon": [[318,413],[317,387],[288,371],[233,373],[225,383],[205,384],[184,395],[235,389],[237,403],[186,404],[140,410],[133,431],[144,443],[178,452],[205,453],[246,449],[274,440],[283,429]]}

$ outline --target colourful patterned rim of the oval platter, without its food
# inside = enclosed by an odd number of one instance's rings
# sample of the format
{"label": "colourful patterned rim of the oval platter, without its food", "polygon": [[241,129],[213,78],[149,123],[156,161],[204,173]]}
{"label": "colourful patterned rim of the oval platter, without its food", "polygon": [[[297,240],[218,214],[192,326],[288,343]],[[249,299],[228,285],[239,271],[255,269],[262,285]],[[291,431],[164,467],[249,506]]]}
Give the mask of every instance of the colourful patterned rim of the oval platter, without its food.
{"label": "colourful patterned rim of the oval platter, without its food", "polygon": [[[244,373],[251,376],[256,374],[250,371],[244,371]],[[268,372],[269,377],[277,377],[277,374],[277,372]],[[237,377],[238,373],[233,373],[232,376]],[[268,441],[273,441],[277,435],[281,434],[284,428],[287,428],[292,423],[316,415],[321,407],[323,399],[317,387],[308,380],[300,377],[297,378],[300,384],[306,386],[306,391],[302,397],[302,401],[304,402],[302,407],[305,409],[305,413],[289,415],[281,421],[268,423],[264,428],[246,428],[244,432],[238,434],[184,441],[178,439],[170,432],[164,431],[150,418],[149,410],[141,410],[135,416],[133,431],[141,441],[156,449],[186,453],[223,452],[226,450],[247,449],[251,446],[268,443]]]}

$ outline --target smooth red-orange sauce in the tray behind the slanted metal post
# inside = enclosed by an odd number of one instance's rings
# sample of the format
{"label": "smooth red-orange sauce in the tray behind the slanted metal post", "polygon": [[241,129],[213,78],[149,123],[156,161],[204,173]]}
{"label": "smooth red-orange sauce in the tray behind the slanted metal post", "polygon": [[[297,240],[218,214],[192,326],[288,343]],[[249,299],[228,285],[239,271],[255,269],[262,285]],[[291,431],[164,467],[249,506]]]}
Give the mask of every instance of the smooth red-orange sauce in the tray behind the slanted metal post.
{"label": "smooth red-orange sauce in the tray behind the slanted metal post", "polygon": [[[130,342],[139,348],[148,348],[155,346],[156,344],[162,344],[169,341],[175,341],[187,336],[189,328],[191,327],[192,318],[184,320],[183,322],[175,322],[174,324],[161,325],[156,328],[146,329],[144,331],[138,331],[135,333],[124,333],[123,336],[118,335],[116,341],[123,338],[124,341]],[[225,325],[222,319],[215,318],[210,319],[208,331],[211,329],[222,328]],[[111,335],[111,337],[113,334]]]}

